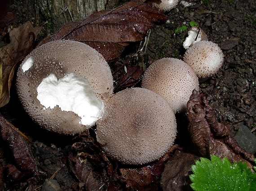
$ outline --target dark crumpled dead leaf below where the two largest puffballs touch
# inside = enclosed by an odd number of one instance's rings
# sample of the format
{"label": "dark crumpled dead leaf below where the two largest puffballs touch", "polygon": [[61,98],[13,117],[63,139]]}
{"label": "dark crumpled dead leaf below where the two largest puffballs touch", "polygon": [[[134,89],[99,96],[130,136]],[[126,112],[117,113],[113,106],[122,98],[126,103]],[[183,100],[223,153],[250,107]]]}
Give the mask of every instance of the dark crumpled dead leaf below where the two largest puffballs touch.
{"label": "dark crumpled dead leaf below where the two largest puffballs touch", "polygon": [[81,133],[78,139],[72,145],[75,154],[69,156],[71,170],[79,180],[73,188],[76,191],[118,190],[120,185],[115,181],[116,170],[98,142],[88,131]]}

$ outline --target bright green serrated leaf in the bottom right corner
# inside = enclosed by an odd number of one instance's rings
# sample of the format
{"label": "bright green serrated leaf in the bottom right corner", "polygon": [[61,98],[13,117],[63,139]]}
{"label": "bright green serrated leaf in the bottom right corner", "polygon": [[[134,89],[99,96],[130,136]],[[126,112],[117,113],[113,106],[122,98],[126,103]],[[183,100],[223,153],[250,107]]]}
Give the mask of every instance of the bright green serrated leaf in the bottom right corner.
{"label": "bright green serrated leaf in the bottom right corner", "polygon": [[190,175],[194,191],[256,191],[256,174],[239,161],[233,165],[212,155],[212,161],[201,158],[191,167]]}

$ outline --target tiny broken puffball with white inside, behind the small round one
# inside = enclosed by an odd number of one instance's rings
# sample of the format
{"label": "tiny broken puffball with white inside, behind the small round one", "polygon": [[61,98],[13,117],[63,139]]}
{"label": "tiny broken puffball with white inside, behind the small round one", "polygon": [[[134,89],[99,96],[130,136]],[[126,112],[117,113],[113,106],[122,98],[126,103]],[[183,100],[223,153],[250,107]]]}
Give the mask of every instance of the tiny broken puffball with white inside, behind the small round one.
{"label": "tiny broken puffball with white inside, behind the small round one", "polygon": [[188,49],[194,43],[200,42],[203,40],[207,40],[207,36],[206,36],[205,32],[202,29],[200,29],[199,27],[192,26],[188,32],[188,37],[183,42],[183,47],[185,49]]}

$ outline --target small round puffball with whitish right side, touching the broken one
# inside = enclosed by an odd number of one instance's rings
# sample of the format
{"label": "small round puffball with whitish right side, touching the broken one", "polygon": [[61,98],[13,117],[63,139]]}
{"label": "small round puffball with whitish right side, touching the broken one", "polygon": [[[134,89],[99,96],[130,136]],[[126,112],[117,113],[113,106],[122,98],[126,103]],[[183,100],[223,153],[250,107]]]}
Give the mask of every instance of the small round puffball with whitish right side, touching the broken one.
{"label": "small round puffball with whitish right side, touching the broken one", "polygon": [[218,72],[224,62],[224,55],[216,43],[200,41],[185,52],[183,60],[199,78],[206,78]]}

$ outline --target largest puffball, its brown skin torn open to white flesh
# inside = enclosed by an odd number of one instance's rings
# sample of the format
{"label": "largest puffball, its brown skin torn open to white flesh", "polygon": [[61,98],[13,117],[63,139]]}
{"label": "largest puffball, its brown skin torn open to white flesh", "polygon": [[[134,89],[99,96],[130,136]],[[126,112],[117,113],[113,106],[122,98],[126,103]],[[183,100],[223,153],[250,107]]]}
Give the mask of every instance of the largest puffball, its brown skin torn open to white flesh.
{"label": "largest puffball, its brown skin torn open to white flesh", "polygon": [[18,68],[16,86],[36,123],[71,135],[96,123],[114,89],[102,55],[70,40],[48,42],[27,55]]}

